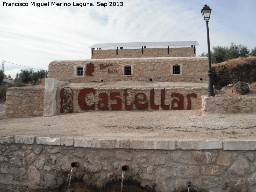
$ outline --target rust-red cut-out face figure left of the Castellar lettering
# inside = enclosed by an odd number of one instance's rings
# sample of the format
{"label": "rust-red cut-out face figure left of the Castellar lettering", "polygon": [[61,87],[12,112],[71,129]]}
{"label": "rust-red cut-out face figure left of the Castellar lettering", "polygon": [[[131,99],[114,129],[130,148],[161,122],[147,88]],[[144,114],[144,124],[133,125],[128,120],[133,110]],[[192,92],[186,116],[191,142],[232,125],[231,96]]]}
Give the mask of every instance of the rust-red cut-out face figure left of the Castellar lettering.
{"label": "rust-red cut-out face figure left of the Castellar lettering", "polygon": [[73,113],[74,93],[70,87],[64,87],[60,91],[60,113]]}

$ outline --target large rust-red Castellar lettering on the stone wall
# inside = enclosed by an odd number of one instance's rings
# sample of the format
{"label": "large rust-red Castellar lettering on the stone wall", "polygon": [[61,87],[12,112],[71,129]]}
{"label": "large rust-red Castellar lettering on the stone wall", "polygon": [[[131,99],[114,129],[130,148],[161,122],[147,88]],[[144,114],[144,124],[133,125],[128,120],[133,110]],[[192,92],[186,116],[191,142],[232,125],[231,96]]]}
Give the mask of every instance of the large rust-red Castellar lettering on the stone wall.
{"label": "large rust-red Castellar lettering on the stone wall", "polygon": [[[78,105],[80,106],[81,109],[84,110],[94,110],[95,109],[95,103],[92,105],[88,105],[85,102],[85,97],[88,93],[92,93],[95,95],[95,89],[93,88],[84,88],[82,89],[79,93],[78,93]],[[151,89],[150,91],[150,108],[152,109],[159,109],[159,105],[156,105],[154,103],[154,88]],[[121,99],[121,93],[120,92],[110,92],[109,95],[109,99],[110,100],[116,100],[115,104],[111,104],[110,107],[112,110],[122,110],[122,99]],[[127,103],[127,98],[128,98],[128,93],[127,93],[127,89],[124,90],[123,93],[124,96],[124,109],[126,110],[132,110],[133,108],[133,103],[131,103],[130,105],[128,105]],[[196,93],[191,93],[191,94],[187,94],[187,99],[188,99],[188,106],[187,109],[191,109],[191,97],[197,98]],[[178,97],[178,99],[173,99],[171,102],[171,109],[184,109],[184,96],[180,93],[172,93],[171,97]],[[98,109],[99,110],[109,110],[108,108],[108,94],[106,92],[100,93],[99,94],[99,100],[98,101]],[[145,93],[137,93],[134,97],[134,105],[137,109],[139,110],[145,110],[148,109],[148,102],[146,103],[141,103],[146,101],[146,94]],[[176,107],[174,107],[175,103],[178,105],[176,105]],[[165,104],[165,89],[161,90],[161,102],[160,102],[160,106],[162,109],[164,110],[168,110],[170,109],[170,104],[166,105]]]}

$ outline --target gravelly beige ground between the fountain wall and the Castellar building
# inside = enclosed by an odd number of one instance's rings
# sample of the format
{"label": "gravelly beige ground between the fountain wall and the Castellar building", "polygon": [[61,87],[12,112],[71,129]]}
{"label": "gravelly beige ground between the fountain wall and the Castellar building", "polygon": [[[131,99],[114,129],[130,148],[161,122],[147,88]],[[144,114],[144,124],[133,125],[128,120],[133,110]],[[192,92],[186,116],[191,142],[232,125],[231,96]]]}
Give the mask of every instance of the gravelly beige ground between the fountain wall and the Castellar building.
{"label": "gravelly beige ground between the fountain wall and the Castellar building", "polygon": [[84,138],[255,139],[256,114],[202,115],[200,110],[93,111],[3,119],[0,135]]}

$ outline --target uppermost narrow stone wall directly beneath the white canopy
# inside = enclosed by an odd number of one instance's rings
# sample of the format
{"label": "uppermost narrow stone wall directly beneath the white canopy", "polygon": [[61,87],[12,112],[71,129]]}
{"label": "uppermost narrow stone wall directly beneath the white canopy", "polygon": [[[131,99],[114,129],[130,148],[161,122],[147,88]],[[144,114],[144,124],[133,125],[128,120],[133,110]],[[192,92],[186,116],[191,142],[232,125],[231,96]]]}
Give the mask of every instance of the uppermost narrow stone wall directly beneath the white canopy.
{"label": "uppermost narrow stone wall directly beneath the white canopy", "polygon": [[147,58],[147,57],[196,57],[196,49],[193,47],[182,48],[146,48],[141,54],[140,49],[116,49],[93,50],[92,59],[113,59],[113,58]]}

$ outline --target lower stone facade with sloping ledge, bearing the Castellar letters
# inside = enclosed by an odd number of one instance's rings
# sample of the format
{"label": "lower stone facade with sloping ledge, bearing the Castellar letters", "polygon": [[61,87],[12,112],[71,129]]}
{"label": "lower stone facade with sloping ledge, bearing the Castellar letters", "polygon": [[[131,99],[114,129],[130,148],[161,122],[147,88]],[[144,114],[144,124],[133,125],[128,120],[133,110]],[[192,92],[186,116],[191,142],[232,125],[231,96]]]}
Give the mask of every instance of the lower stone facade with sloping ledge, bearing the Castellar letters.
{"label": "lower stone facade with sloping ledge, bearing the Castellar letters", "polygon": [[[58,114],[67,112],[61,108],[64,98],[60,96],[62,90],[67,88],[73,94],[73,113],[89,111],[89,109],[83,108],[83,102],[89,108],[94,106],[91,110],[115,110],[118,102],[120,104],[119,110],[200,109],[202,106],[201,96],[207,94],[208,91],[207,84],[205,83],[194,83],[192,85],[190,83],[169,82],[66,84],[58,87],[57,90],[56,106]],[[94,93],[92,93],[91,89],[94,90]],[[79,95],[81,95],[83,90],[89,90],[90,92],[81,97]],[[115,98],[111,97],[113,93],[118,93],[115,95]],[[103,96],[106,96],[106,98]],[[162,98],[163,96],[164,99]],[[130,105],[132,105],[131,108],[127,107]],[[155,108],[153,105],[155,105]]]}

